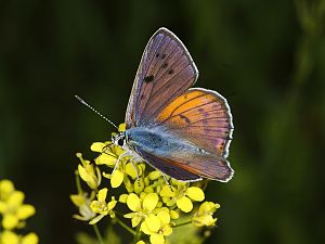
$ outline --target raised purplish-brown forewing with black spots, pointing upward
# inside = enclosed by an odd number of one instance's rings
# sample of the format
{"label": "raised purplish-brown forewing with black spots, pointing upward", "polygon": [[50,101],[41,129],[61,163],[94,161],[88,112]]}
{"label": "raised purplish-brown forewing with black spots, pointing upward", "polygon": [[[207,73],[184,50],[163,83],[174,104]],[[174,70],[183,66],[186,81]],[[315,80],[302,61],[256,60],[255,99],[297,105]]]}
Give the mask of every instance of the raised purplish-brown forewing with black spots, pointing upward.
{"label": "raised purplish-brown forewing with black spots, pointing upward", "polygon": [[184,44],[170,30],[158,29],[139,65],[126,114],[127,129],[151,124],[197,77],[198,70]]}

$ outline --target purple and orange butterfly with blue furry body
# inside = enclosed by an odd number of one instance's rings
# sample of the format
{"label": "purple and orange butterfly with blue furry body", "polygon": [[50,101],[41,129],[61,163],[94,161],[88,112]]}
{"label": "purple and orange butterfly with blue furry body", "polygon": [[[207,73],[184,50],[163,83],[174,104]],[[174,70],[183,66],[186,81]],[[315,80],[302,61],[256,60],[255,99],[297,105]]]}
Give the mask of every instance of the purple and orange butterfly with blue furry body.
{"label": "purple and orange butterfly with blue furry body", "polygon": [[198,70],[181,40],[167,28],[150,39],[134,79],[126,130],[113,142],[181,181],[226,182],[233,121],[218,92],[191,88]]}

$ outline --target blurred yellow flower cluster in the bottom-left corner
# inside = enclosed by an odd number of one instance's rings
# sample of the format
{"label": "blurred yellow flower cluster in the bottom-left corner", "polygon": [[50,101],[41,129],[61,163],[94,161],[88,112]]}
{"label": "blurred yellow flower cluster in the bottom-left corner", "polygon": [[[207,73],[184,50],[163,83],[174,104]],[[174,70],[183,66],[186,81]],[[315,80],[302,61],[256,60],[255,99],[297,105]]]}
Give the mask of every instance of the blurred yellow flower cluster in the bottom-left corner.
{"label": "blurred yellow flower cluster in the bottom-left corner", "polygon": [[0,244],[37,244],[35,233],[21,235],[15,229],[25,227],[25,220],[35,214],[34,206],[24,204],[25,194],[16,191],[10,180],[0,180]]}

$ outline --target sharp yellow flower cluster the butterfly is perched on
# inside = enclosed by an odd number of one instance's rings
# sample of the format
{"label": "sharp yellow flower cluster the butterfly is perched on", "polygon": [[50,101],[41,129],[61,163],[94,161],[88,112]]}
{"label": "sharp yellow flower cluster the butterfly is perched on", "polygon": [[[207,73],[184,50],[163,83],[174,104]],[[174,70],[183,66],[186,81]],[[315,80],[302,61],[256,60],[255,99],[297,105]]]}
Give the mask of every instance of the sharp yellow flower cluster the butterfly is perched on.
{"label": "sharp yellow flower cluster the butterfly is perched on", "polygon": [[[119,128],[123,130],[123,124]],[[202,182],[190,184],[162,176],[144,162],[120,156],[125,151],[112,142],[95,142],[91,151],[99,153],[93,163],[77,154],[78,194],[70,195],[79,209],[75,218],[90,224],[110,218],[139,244],[164,244],[178,226],[214,226],[217,218],[212,215],[219,205],[204,202]],[[80,179],[88,191],[83,191]],[[196,202],[202,204],[197,206]],[[129,210],[121,214],[117,208]]]}

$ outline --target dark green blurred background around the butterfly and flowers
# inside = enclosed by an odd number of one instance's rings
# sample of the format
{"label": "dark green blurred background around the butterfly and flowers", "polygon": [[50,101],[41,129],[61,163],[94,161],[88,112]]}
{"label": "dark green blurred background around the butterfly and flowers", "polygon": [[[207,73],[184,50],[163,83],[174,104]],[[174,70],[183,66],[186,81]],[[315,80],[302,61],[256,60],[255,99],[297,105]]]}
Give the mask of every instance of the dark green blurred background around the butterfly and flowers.
{"label": "dark green blurred background around the butterfly and flowers", "polygon": [[[42,243],[90,229],[70,217],[76,152],[114,128],[151,35],[170,28],[198,66],[196,86],[227,98],[234,117],[222,205],[209,243],[324,240],[325,3],[294,0],[0,1],[0,178],[27,194]],[[125,232],[122,232],[125,234]]]}

